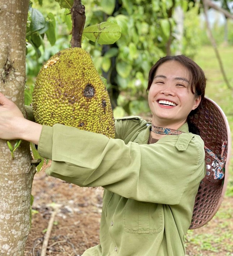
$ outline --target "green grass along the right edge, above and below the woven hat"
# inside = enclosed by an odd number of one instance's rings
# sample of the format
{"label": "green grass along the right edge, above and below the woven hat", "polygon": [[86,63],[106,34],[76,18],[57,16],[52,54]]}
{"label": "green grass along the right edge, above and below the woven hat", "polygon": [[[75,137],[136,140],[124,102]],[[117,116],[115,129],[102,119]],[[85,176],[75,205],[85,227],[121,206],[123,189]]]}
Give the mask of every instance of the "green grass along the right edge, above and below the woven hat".
{"label": "green grass along the right edge, above and below the woven hat", "polygon": [[[195,62],[202,67],[207,77],[206,97],[211,98],[223,109],[228,119],[230,130],[233,131],[233,46],[221,46],[219,47],[219,53],[232,89],[229,89],[224,82],[212,47],[202,47],[195,58]],[[233,161],[231,160],[224,201],[215,217],[209,223],[196,230],[188,231],[186,235],[186,255],[233,256],[232,218]]]}

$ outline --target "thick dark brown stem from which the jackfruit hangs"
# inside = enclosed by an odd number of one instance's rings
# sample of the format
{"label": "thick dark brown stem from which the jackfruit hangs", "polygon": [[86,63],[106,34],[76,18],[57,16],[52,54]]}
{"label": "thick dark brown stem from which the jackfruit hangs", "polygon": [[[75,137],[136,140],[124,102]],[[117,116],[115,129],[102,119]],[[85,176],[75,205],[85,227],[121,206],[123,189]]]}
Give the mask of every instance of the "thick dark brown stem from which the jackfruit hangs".
{"label": "thick dark brown stem from which the jackfruit hangs", "polygon": [[72,38],[70,46],[81,48],[82,32],[86,21],[85,6],[82,5],[81,0],[74,0],[70,12],[72,17]]}

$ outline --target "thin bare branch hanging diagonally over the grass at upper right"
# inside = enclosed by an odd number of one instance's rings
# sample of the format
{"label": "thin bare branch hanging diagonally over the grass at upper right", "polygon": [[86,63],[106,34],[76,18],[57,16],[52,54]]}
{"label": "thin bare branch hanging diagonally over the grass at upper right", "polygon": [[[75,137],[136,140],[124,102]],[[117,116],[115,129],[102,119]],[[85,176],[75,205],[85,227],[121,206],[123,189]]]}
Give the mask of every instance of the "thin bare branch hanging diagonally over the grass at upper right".
{"label": "thin bare branch hanging diagonally over the grass at upper right", "polygon": [[226,77],[226,74],[225,74],[225,71],[224,71],[224,68],[223,68],[223,63],[221,61],[221,57],[220,57],[219,51],[217,50],[217,45],[216,45],[215,39],[213,37],[213,34],[211,32],[210,23],[208,21],[207,9],[208,9],[208,1],[209,0],[202,0],[202,1],[203,1],[203,5],[204,5],[204,14],[205,14],[205,17],[206,17],[206,26],[207,26],[208,36],[210,38],[211,44],[213,46],[213,49],[215,50],[215,54],[216,54],[217,60],[219,62],[220,70],[221,70],[221,72],[223,74],[224,81],[225,81],[227,87],[229,89],[232,89],[232,87],[230,86],[230,83],[229,83],[229,81],[228,81],[228,79]]}

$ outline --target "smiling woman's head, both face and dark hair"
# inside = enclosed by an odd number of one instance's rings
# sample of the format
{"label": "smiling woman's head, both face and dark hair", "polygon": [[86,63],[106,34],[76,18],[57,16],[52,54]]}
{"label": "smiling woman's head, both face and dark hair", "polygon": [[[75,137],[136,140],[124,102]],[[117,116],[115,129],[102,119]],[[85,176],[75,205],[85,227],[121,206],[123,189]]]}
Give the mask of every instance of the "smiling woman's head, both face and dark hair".
{"label": "smiling woman's head, both face and dark hair", "polygon": [[[193,60],[184,55],[161,58],[151,68],[148,80],[152,123],[178,129],[201,108],[205,88],[204,72]],[[195,131],[190,123],[189,129]]]}

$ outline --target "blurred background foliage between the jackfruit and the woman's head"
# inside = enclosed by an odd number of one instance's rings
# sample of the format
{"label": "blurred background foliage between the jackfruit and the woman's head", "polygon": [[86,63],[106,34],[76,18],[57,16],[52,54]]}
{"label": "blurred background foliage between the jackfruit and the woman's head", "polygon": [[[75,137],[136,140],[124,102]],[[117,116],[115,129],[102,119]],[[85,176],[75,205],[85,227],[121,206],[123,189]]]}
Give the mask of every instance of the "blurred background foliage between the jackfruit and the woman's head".
{"label": "blurred background foliage between the jackfruit and the woman's head", "polygon": [[[83,47],[91,53],[99,73],[107,79],[113,108],[117,107],[115,116],[118,117],[119,113],[121,116],[142,112],[149,114],[146,92],[148,73],[160,57],[167,55],[168,49],[171,54],[176,53],[180,42],[175,40],[176,21],[173,14],[178,5],[186,11],[188,1],[115,1],[111,14],[98,3],[83,0],[86,25],[115,22],[121,27],[121,37],[113,45],[90,45],[90,42],[84,41]],[[195,52],[195,44],[190,45],[190,49],[192,47]]]}

